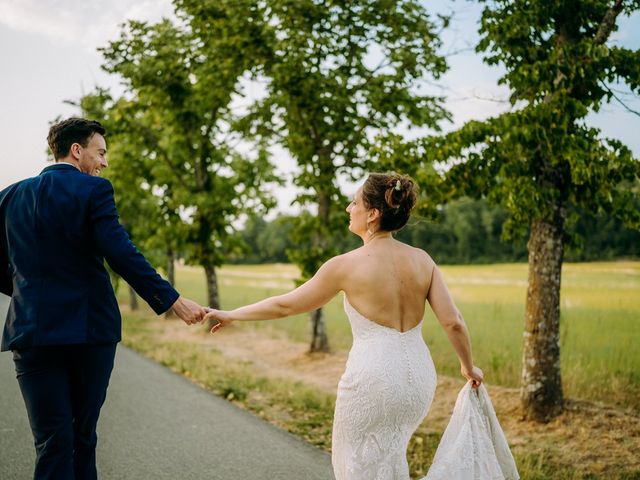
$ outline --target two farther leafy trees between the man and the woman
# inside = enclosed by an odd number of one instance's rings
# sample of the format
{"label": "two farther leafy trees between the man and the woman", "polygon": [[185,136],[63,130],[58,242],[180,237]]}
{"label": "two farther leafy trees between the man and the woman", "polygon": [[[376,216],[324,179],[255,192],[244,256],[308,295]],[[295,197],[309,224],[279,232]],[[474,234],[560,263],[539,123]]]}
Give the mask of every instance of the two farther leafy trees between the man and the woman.
{"label": "two farther leafy trees between the man and the woman", "polygon": [[[154,227],[145,233],[172,252],[184,242],[186,261],[204,267],[209,304],[218,306],[215,267],[234,249],[231,225],[273,205],[258,188],[278,180],[268,147],[284,147],[299,166],[296,201],[313,214],[297,219],[292,236],[308,248],[291,259],[308,278],[338,252],[328,241],[345,216],[337,177],[368,168],[376,135],[401,122],[436,128],[447,117],[442,99],[413,88],[446,63],[436,53],[439,26],[413,0],[174,4],[178,21],[129,22],[102,49],[104,69],[123,79],[125,94],[99,91],[80,103],[120,145],[112,163],[118,152],[140,163],[111,177],[142,187],[166,220],[158,235]],[[262,95],[234,108],[247,88]],[[321,309],[312,331],[311,349],[327,350]]]}

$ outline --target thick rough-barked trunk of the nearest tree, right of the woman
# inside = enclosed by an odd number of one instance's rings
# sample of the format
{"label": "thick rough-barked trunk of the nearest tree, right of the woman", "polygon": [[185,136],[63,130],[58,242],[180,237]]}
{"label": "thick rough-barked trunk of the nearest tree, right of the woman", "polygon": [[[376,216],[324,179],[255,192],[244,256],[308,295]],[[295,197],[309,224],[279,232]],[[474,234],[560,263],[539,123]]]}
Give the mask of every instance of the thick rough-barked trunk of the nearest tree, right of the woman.
{"label": "thick rough-barked trunk of the nearest tree, right of the woman", "polygon": [[522,385],[524,416],[547,422],[562,412],[560,274],[563,222],[535,220],[529,237]]}

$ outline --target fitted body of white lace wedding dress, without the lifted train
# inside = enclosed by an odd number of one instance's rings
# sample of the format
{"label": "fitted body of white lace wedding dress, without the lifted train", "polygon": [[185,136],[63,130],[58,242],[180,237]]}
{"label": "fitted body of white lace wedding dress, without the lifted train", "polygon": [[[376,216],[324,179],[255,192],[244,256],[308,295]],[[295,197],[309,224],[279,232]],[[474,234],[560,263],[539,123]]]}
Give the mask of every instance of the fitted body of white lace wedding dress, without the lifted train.
{"label": "fitted body of white lace wedding dress, without the lifted train", "polygon": [[353,346],[333,421],[336,480],[408,480],[407,445],[436,389],[422,323],[402,333],[362,316],[346,295],[344,308]]}

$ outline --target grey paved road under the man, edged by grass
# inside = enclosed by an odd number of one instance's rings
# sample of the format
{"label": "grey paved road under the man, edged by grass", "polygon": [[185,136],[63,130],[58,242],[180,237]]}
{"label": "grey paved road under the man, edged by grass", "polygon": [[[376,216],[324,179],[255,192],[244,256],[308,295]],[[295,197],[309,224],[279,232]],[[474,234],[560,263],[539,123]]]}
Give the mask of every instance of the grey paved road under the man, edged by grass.
{"label": "grey paved road under the man, edged by grass", "polygon": [[[0,295],[0,325],[6,297]],[[330,480],[323,451],[118,347],[98,425],[101,480]],[[0,354],[0,479],[28,480],[33,440],[10,353]]]}

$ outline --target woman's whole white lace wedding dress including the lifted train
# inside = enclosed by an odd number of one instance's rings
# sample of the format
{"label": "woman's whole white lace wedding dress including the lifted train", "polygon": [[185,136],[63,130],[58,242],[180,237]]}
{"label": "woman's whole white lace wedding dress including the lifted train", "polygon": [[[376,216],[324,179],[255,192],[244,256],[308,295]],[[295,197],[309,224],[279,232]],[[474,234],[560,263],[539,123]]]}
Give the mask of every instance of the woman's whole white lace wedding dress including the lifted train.
{"label": "woman's whole white lace wedding dress including the lifted train", "polygon": [[[336,399],[336,480],[409,480],[409,439],[429,411],[436,388],[422,322],[403,333],[365,318],[346,295],[344,308],[353,346]],[[473,391],[467,383],[425,480],[517,478],[486,390]]]}

